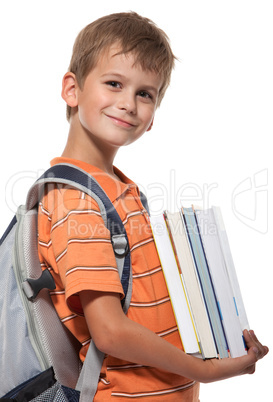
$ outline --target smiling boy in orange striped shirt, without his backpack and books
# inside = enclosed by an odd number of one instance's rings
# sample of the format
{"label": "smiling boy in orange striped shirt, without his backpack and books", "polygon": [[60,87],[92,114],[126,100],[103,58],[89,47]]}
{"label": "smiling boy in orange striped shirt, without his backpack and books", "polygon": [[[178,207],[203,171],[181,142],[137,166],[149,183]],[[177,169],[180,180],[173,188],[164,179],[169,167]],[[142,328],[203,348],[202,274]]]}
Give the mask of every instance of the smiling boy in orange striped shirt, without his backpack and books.
{"label": "smiling boy in orange striped shirt, without his backpack and books", "polygon": [[197,402],[199,382],[253,373],[268,349],[245,331],[248,355],[202,361],[180,342],[149,218],[136,185],[113,166],[121,146],[152,128],[175,57],[163,31],[136,13],[103,17],[76,39],[62,86],[70,123],[61,158],[95,176],[120,215],[132,259],[127,315],[109,231],[95,200],[48,187],[38,221],[41,263],[56,282],[52,300],[81,342],[106,354],[95,401]]}

